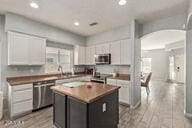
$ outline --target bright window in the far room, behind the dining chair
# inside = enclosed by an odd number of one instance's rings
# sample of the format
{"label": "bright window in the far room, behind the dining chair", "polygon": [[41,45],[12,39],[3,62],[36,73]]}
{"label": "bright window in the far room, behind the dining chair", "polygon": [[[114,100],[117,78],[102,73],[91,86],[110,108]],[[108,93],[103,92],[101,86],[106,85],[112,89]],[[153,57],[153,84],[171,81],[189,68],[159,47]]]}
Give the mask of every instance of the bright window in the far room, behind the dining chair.
{"label": "bright window in the far room, behind the dining chair", "polygon": [[150,73],[151,72],[151,58],[142,58],[141,62],[141,71],[142,73]]}

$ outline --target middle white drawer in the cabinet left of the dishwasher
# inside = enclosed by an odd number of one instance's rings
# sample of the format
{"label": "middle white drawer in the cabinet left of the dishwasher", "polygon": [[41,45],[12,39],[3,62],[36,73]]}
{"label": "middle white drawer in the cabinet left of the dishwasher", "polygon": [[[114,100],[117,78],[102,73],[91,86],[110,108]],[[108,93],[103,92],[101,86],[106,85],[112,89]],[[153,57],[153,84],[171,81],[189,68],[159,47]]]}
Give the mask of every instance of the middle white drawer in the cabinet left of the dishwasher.
{"label": "middle white drawer in the cabinet left of the dishwasher", "polygon": [[32,100],[33,99],[33,90],[27,89],[27,90],[20,90],[13,92],[13,103],[26,101],[26,100]]}

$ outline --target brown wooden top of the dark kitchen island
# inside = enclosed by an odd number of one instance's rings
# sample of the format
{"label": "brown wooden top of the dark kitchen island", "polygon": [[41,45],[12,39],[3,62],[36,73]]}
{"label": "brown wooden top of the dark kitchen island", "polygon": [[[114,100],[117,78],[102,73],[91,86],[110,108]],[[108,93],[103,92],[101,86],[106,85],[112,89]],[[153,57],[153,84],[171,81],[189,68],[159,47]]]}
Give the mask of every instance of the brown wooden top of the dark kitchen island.
{"label": "brown wooden top of the dark kitchen island", "polygon": [[85,103],[94,102],[105,95],[108,95],[120,87],[94,83],[94,82],[83,82],[81,86],[67,87],[65,85],[58,85],[51,87],[55,92],[62,93],[67,96],[71,96]]}

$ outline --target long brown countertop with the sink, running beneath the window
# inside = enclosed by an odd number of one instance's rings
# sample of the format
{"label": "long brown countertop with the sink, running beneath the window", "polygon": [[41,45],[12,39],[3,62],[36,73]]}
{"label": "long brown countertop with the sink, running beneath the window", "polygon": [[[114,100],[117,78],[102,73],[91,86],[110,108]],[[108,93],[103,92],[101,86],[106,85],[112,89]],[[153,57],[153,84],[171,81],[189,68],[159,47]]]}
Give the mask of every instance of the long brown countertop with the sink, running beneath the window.
{"label": "long brown countertop with the sink, running beneath the window", "polygon": [[60,74],[9,77],[9,78],[7,78],[7,82],[11,86],[15,86],[15,85],[28,84],[28,83],[33,83],[33,82],[69,79],[69,78],[77,78],[77,77],[82,77],[82,76],[88,76],[88,75],[82,74],[82,73],[78,73],[78,74],[75,74],[75,75],[68,74],[68,75],[64,75],[62,77],[61,77]]}

